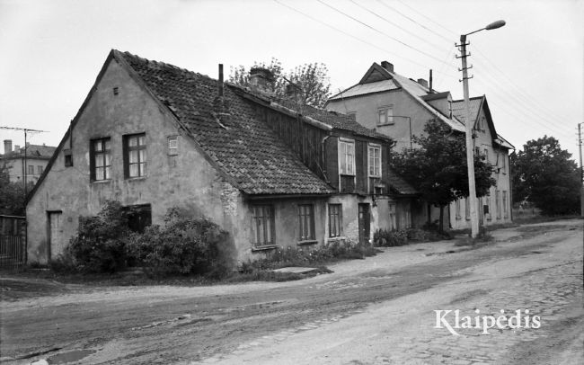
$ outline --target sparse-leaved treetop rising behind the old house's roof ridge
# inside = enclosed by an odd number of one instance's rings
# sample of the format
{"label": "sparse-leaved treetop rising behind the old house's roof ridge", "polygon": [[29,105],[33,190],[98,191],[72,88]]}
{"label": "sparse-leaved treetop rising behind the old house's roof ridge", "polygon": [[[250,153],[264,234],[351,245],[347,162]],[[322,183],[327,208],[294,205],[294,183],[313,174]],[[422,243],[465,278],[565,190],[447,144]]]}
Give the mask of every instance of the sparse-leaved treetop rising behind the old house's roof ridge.
{"label": "sparse-leaved treetop rising behind the old house's roof ridge", "polygon": [[[308,63],[297,66],[285,73],[278,58],[271,58],[270,64],[255,62],[253,67],[262,67],[270,70],[274,81],[270,83],[270,92],[279,97],[286,97],[287,87],[297,87],[298,102],[320,108],[324,106],[331,95],[331,83],[329,82],[328,69],[323,63]],[[231,69],[229,81],[235,85],[250,85],[250,73],[243,66]],[[290,86],[288,86],[290,85]]]}

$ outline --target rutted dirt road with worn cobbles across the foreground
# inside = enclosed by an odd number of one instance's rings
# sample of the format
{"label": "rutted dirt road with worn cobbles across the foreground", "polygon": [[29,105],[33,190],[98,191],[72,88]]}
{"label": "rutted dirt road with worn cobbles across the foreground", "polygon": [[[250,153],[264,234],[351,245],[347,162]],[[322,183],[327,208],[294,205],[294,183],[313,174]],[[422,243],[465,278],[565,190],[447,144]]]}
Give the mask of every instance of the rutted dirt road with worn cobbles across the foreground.
{"label": "rutted dirt road with worn cobbles across the foreground", "polygon": [[[452,242],[386,249],[283,283],[55,284],[55,295],[2,303],[0,350],[6,363],[70,355],[79,363],[580,364],[582,221],[493,236],[495,245],[476,250]],[[541,327],[455,335],[434,328],[435,310],[447,309],[528,309]]]}

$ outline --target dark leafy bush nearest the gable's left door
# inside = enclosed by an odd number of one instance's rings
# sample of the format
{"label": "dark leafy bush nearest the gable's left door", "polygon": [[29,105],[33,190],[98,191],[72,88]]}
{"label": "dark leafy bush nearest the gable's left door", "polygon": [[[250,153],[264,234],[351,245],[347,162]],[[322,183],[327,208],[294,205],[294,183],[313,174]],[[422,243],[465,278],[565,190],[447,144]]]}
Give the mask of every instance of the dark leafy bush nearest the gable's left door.
{"label": "dark leafy bush nearest the gable's left door", "polygon": [[58,261],[71,260],[80,272],[117,272],[126,266],[128,236],[127,214],[119,202],[108,200],[97,217],[79,218],[77,236],[71,238]]}

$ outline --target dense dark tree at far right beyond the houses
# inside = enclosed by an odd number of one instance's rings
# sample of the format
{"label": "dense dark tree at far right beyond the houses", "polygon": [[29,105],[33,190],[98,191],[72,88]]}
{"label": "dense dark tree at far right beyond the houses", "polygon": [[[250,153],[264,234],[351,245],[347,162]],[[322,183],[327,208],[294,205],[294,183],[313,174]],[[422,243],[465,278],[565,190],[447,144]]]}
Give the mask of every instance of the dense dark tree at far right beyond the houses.
{"label": "dense dark tree at far right beyond the houses", "polygon": [[553,137],[532,139],[511,155],[513,201],[529,201],[544,215],[577,213],[580,170]]}

